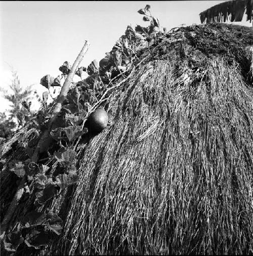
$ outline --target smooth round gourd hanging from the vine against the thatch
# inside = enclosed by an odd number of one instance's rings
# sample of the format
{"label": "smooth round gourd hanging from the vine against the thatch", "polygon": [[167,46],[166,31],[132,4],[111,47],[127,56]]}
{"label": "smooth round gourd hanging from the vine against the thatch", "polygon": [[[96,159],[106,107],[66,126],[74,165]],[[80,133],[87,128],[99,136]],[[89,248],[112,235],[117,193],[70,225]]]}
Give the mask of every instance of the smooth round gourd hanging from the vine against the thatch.
{"label": "smooth round gourd hanging from the vine against the thatch", "polygon": [[101,132],[108,124],[108,115],[103,108],[96,109],[88,119],[89,132]]}

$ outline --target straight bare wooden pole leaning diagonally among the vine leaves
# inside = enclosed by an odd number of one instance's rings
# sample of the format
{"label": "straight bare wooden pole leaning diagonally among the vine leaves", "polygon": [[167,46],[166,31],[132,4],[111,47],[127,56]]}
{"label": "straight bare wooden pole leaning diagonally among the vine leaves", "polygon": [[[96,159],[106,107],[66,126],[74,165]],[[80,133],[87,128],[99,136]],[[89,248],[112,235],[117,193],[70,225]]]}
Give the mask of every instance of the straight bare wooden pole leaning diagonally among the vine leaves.
{"label": "straight bare wooden pole leaning diagonally among the vine leaves", "polygon": [[[40,140],[37,144],[37,147],[36,147],[32,157],[31,157],[31,161],[34,162],[34,163],[37,163],[37,161],[38,161],[38,153],[39,153],[41,143],[43,143],[46,139],[49,138],[50,131],[52,129],[52,126],[53,126],[57,116],[58,116],[58,113],[61,111],[62,103],[64,102],[64,100],[67,96],[67,93],[68,93],[68,90],[70,88],[73,77],[75,75],[75,72],[76,72],[82,58],[87,53],[87,51],[89,49],[89,46],[90,46],[89,41],[85,41],[85,45],[83,45],[79,55],[77,56],[74,64],[72,65],[71,70],[70,70],[70,72],[69,72],[69,74],[68,74],[68,76],[67,76],[67,78],[66,78],[66,80],[65,80],[65,82],[62,86],[61,92],[60,92],[60,94],[57,98],[56,104],[54,106],[52,117],[49,121],[48,129],[42,134],[42,136],[41,136],[41,138],[40,138]],[[20,185],[18,186],[16,194],[14,195],[14,197],[12,199],[12,202],[11,202],[11,204],[10,204],[8,210],[7,210],[7,213],[5,214],[4,220],[1,223],[1,236],[0,236],[1,240],[4,238],[6,230],[9,226],[10,220],[13,216],[13,213],[16,210],[16,207],[18,206],[20,199],[23,196],[25,181],[26,181],[26,178],[24,176],[21,179],[21,182],[20,182]]]}

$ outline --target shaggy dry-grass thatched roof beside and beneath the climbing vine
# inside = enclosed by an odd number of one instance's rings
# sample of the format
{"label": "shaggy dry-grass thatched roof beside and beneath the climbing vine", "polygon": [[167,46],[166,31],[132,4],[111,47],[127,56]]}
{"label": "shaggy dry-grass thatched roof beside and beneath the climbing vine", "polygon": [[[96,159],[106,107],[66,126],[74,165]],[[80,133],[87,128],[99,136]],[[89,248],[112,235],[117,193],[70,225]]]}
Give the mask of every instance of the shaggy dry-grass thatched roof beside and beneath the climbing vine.
{"label": "shaggy dry-grass thatched roof beside and beneath the climbing vine", "polygon": [[[56,199],[62,235],[37,253],[252,253],[251,45],[252,28],[208,24],[140,52],[145,61],[105,105],[111,125],[78,146],[81,182]],[[2,145],[5,165],[32,132]],[[16,184],[5,168],[1,182],[3,214]]]}

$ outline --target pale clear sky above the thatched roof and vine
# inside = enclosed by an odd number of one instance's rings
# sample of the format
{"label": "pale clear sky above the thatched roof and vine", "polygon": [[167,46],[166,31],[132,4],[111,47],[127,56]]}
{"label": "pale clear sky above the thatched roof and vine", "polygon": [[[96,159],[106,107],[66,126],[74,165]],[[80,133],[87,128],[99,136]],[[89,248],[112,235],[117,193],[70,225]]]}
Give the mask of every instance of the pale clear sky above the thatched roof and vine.
{"label": "pale clear sky above the thatched roof and vine", "polygon": [[[1,1],[0,87],[8,89],[11,84],[12,66],[20,84],[33,85],[42,96],[46,88],[40,79],[60,75],[59,67],[66,60],[72,64],[86,40],[90,48],[81,66],[111,51],[126,26],[147,26],[137,13],[146,4],[168,31],[182,24],[200,24],[199,13],[222,2],[226,1]],[[245,20],[236,23],[252,26]],[[0,95],[0,112],[9,108]],[[37,108],[33,100],[31,109]]]}

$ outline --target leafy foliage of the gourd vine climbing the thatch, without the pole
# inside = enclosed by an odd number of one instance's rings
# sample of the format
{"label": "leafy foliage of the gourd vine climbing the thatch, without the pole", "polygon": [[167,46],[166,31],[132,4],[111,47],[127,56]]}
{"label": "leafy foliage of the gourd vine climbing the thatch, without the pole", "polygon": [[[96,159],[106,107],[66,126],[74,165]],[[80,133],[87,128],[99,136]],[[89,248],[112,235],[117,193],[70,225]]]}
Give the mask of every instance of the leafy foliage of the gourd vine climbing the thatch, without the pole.
{"label": "leafy foliage of the gourd vine climbing the thatch, without the pole", "polygon": [[[89,132],[87,128],[83,128],[83,124],[88,119],[91,107],[98,103],[115,79],[124,79],[138,62],[136,47],[141,43],[140,33],[144,32],[150,36],[156,28],[159,29],[159,20],[151,16],[149,5],[138,12],[145,15],[143,19],[149,21],[150,25],[146,28],[137,26],[135,29],[128,26],[124,35],[120,36],[112,50],[107,52],[99,63],[93,60],[88,67],[78,68],[75,75],[82,78],[83,72],[86,72],[88,77],[76,85],[73,84],[67,96],[62,98],[61,111],[52,124],[49,137],[44,141],[40,141],[40,136],[48,129],[52,117],[52,107],[47,104],[51,95],[50,89],[61,87],[61,80],[66,79],[71,65],[65,61],[59,67],[61,75],[57,78],[50,75],[41,78],[40,84],[48,91],[43,93],[43,108],[31,119],[32,126],[38,130],[38,135],[29,141],[26,147],[29,158],[26,161],[13,160],[9,165],[12,173],[26,180],[26,198],[34,198],[35,208],[24,216],[20,229],[5,237],[6,250],[15,251],[23,242],[28,247],[39,249],[49,242],[50,232],[61,234],[63,221],[56,213],[50,209],[49,212],[38,212],[35,209],[41,209],[41,206],[53,202],[62,190],[80,182],[80,177],[76,173],[75,142]],[[29,111],[30,102],[23,101],[23,106]],[[18,119],[23,123],[24,115],[19,115]],[[58,169],[54,173],[51,173],[47,165],[31,161],[38,141],[39,153],[47,153],[49,157],[46,159],[58,163]],[[49,149],[52,149],[53,153],[50,154]],[[43,159],[39,161],[43,162]],[[32,194],[29,188],[33,188]]]}

